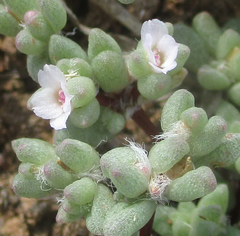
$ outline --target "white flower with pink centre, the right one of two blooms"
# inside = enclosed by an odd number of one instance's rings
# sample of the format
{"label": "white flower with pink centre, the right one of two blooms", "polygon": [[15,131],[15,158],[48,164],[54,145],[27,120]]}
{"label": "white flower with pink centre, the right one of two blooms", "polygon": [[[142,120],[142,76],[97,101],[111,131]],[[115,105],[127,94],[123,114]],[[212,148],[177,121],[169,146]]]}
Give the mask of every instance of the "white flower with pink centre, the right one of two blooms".
{"label": "white flower with pink centre, the right one of two blooms", "polygon": [[177,66],[178,43],[168,34],[166,25],[157,19],[145,21],[141,29],[142,45],[155,73],[167,74]]}

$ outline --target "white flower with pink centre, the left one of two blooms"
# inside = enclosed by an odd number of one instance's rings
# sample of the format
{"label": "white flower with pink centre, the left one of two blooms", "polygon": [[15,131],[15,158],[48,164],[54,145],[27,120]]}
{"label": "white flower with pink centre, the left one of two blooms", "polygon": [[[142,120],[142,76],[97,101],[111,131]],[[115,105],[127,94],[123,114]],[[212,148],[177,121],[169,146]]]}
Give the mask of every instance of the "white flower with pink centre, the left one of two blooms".
{"label": "white flower with pink centre, the left one of two blooms", "polygon": [[50,119],[55,130],[66,128],[73,95],[67,91],[65,75],[54,65],[44,65],[38,72],[38,82],[41,88],[29,99],[28,106],[37,116]]}

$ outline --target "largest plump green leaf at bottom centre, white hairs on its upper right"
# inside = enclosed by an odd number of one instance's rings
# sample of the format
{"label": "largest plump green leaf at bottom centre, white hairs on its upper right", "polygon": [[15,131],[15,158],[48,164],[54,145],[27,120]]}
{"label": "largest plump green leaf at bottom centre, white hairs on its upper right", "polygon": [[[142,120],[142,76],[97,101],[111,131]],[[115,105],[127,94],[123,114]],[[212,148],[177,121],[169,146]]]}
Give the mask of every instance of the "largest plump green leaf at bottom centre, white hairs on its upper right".
{"label": "largest plump green leaf at bottom centre, white hairs on its upper right", "polygon": [[137,150],[120,147],[101,157],[103,174],[111,179],[120,193],[129,198],[138,197],[148,189],[151,174],[146,153],[140,148]]}

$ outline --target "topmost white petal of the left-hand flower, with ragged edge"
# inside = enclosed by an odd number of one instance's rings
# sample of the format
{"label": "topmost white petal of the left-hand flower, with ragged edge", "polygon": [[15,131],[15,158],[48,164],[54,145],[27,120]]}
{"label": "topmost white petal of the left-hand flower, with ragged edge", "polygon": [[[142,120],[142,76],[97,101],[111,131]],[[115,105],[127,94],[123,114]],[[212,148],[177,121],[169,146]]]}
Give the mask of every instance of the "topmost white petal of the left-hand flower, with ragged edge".
{"label": "topmost white petal of the left-hand flower, with ragged edge", "polygon": [[60,83],[66,83],[66,77],[57,66],[46,64],[43,70],[38,72],[38,82],[43,88],[60,89]]}

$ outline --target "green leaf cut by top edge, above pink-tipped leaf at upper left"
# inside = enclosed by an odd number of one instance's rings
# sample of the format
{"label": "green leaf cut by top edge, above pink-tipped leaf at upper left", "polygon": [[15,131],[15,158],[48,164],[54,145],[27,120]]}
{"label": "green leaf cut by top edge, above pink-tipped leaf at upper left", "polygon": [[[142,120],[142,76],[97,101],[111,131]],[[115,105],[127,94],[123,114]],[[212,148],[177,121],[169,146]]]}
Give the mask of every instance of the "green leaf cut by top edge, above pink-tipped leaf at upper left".
{"label": "green leaf cut by top edge, above pink-tipped leaf at upper left", "polygon": [[24,21],[24,15],[27,11],[38,10],[38,0],[4,0],[4,3],[19,21]]}

